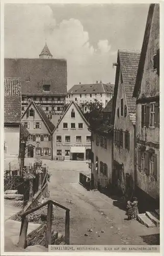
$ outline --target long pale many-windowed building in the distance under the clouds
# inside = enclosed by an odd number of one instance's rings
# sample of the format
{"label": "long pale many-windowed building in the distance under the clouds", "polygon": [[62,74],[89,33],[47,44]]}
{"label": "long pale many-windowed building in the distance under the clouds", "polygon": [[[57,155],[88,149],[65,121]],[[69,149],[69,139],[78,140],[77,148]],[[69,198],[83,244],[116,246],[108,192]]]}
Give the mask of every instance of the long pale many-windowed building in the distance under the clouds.
{"label": "long pale many-windowed building in the distance under the clouds", "polygon": [[107,102],[113,97],[114,85],[111,83],[102,83],[98,81],[92,84],[75,84],[67,93],[66,103],[69,104],[74,100],[83,112],[87,112],[84,106],[87,102],[94,102],[97,99],[103,104],[103,108]]}

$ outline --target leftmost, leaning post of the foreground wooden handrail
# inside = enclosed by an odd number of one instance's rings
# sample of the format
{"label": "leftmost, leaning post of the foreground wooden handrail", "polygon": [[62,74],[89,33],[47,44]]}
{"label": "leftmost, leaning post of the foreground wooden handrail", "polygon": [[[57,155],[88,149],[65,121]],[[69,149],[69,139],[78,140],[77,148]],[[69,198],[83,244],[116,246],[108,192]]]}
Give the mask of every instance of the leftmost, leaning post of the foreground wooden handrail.
{"label": "leftmost, leaning post of the foreground wooden handrail", "polygon": [[28,231],[28,224],[29,224],[28,220],[26,219],[25,216],[23,216],[21,220],[18,246],[24,249],[26,248],[26,236]]}

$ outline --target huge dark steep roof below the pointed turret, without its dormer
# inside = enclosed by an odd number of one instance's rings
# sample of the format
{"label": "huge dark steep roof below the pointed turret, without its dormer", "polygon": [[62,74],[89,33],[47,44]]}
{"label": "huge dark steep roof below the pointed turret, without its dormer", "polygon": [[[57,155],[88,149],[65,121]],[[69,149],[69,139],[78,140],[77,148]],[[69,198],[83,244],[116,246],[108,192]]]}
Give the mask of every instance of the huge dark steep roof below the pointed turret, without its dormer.
{"label": "huge dark steep roof below the pointed turret, without its dormer", "polygon": [[[21,78],[22,95],[67,95],[65,59],[6,58],[5,77]],[[47,81],[50,91],[43,90]]]}

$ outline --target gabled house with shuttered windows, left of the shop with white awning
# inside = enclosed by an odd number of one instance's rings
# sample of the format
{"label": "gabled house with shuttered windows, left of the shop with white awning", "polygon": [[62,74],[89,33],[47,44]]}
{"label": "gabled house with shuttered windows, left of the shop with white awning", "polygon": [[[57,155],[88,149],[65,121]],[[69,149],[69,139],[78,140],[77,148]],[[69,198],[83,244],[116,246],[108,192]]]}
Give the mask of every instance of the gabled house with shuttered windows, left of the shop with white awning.
{"label": "gabled house with shuttered windows, left of the shop with white awning", "polygon": [[52,133],[55,126],[47,118],[41,105],[29,101],[21,122],[30,133],[26,143],[25,157],[52,159]]}

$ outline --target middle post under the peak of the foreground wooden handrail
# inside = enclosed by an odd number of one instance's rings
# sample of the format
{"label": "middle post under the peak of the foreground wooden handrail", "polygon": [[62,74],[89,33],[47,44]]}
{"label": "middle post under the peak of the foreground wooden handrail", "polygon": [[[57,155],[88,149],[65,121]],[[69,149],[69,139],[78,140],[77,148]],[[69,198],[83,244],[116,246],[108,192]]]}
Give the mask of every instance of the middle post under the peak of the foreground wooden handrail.
{"label": "middle post under the peak of the foreground wooden handrail", "polygon": [[52,226],[52,203],[48,203],[47,207],[47,231],[46,231],[46,247],[51,244],[51,226]]}

